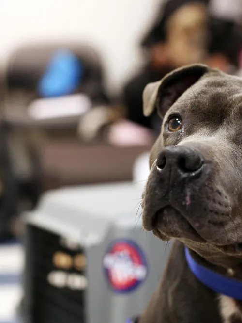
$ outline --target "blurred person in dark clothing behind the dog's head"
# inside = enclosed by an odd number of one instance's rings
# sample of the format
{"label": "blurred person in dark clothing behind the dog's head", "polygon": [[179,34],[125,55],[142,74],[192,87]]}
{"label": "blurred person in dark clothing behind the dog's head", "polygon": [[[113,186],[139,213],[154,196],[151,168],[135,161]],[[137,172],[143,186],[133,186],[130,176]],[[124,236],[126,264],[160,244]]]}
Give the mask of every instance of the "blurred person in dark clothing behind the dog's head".
{"label": "blurred person in dark clothing behind the dog's head", "polygon": [[[123,89],[123,102],[129,120],[159,131],[156,112],[146,118],[142,112],[142,92],[147,83],[160,80],[182,65],[206,63],[234,73],[242,39],[238,24],[210,15],[209,0],[169,0],[141,42],[148,61]],[[213,12],[215,12],[213,5]],[[221,10],[220,10],[221,11]]]}

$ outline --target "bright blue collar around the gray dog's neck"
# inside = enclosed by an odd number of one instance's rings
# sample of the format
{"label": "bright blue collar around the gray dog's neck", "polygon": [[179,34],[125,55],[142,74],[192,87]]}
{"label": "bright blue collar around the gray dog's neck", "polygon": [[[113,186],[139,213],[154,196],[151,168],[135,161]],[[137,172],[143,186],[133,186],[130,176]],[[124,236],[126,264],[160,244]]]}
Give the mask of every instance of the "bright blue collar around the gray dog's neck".
{"label": "bright blue collar around the gray dog's neck", "polygon": [[185,247],[186,261],[193,274],[205,286],[219,294],[224,294],[237,300],[242,300],[242,282],[217,274],[214,271],[199,265]]}

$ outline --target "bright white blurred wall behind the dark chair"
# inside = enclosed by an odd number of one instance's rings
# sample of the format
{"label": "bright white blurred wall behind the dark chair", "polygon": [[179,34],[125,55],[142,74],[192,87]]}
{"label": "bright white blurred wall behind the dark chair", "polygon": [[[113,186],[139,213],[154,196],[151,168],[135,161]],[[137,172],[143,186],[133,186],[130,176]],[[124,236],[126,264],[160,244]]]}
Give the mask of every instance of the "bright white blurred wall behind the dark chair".
{"label": "bright white blurred wall behind the dark chair", "polygon": [[137,42],[161,0],[7,0],[0,8],[0,63],[19,44],[88,40],[107,69],[107,85],[119,88],[141,63]]}

